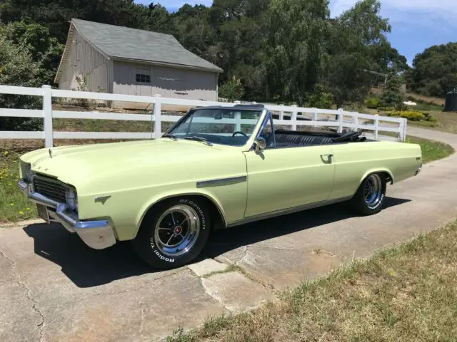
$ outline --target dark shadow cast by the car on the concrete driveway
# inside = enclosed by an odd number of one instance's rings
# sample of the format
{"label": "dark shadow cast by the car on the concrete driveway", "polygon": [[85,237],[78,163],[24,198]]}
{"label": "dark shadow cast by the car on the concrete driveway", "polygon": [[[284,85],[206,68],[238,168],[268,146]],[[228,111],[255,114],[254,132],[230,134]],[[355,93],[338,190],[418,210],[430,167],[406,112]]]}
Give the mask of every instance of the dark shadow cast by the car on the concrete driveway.
{"label": "dark shadow cast by the car on the concrete driveway", "polygon": [[[386,197],[384,209],[410,201]],[[199,260],[353,216],[353,212],[344,204],[333,204],[216,231],[211,234]],[[78,235],[70,234],[59,224],[31,224],[24,231],[34,239],[35,253],[61,266],[62,272],[79,287],[99,286],[118,279],[162,271],[151,269],[136,257],[128,242],[118,243],[109,249],[95,250],[87,247]]]}

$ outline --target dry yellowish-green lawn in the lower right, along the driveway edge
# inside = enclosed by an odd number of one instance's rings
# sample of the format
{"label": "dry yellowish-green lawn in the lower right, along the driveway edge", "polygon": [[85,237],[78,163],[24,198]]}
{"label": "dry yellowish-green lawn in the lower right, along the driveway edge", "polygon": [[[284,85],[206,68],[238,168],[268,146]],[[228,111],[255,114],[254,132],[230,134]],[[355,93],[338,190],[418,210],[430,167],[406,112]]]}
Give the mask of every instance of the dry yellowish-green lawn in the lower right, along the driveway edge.
{"label": "dry yellowish-green lawn in the lower right, along the driveway edge", "polygon": [[457,222],[169,342],[456,341]]}

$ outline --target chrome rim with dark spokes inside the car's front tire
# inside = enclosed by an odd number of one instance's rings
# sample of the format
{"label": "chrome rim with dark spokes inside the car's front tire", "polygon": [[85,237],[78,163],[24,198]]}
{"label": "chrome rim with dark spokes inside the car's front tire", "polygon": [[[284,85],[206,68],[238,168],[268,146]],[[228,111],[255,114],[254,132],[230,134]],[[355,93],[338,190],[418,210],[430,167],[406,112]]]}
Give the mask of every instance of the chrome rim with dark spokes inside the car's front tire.
{"label": "chrome rim with dark spokes inside the car's front tire", "polygon": [[161,215],[154,238],[160,252],[169,257],[178,257],[194,247],[199,234],[199,216],[191,207],[180,204]]}

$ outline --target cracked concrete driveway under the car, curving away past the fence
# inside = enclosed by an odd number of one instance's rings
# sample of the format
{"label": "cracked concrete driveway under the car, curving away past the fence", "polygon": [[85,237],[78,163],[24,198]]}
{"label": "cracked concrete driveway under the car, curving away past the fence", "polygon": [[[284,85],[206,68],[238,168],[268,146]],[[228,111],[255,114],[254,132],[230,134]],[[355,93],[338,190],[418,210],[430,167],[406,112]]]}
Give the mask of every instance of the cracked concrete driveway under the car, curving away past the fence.
{"label": "cracked concrete driveway under the car, curving away past the fence", "polygon": [[[457,135],[408,133],[457,149]],[[340,204],[216,232],[199,262],[173,271],[151,271],[129,244],[89,249],[57,225],[1,227],[0,341],[164,338],[438,228],[457,217],[456,189],[452,155],[388,187],[381,214],[354,217]],[[239,267],[212,273],[230,264]]]}

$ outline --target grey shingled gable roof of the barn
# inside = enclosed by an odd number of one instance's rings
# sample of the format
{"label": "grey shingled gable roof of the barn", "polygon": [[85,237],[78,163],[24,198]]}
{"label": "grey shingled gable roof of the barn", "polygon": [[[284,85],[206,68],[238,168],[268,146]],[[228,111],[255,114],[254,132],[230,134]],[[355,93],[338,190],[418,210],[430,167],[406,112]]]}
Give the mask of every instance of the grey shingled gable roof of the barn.
{"label": "grey shingled gable roof of the barn", "polygon": [[[69,52],[73,30],[88,41],[96,50],[111,59],[124,61],[142,61],[176,68],[195,68],[221,73],[223,70],[209,61],[186,50],[170,34],[144,31],[136,28],[95,23],[81,19],[72,19],[66,51],[61,65]],[[56,76],[59,83],[60,66]]]}

